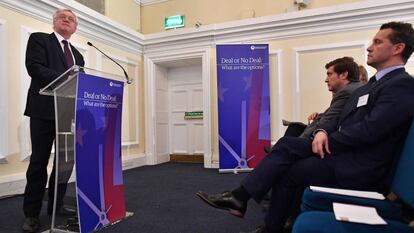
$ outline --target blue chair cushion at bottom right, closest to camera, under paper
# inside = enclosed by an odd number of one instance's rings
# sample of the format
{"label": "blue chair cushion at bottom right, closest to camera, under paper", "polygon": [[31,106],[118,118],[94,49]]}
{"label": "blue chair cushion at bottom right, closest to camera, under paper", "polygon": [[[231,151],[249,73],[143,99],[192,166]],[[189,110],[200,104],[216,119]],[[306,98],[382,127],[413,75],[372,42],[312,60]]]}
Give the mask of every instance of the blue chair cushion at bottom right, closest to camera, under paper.
{"label": "blue chair cushion at bottom right, closest to camera, under paper", "polygon": [[385,219],[387,225],[367,225],[341,222],[335,214],[325,211],[302,213],[293,225],[292,233],[414,233],[407,224]]}

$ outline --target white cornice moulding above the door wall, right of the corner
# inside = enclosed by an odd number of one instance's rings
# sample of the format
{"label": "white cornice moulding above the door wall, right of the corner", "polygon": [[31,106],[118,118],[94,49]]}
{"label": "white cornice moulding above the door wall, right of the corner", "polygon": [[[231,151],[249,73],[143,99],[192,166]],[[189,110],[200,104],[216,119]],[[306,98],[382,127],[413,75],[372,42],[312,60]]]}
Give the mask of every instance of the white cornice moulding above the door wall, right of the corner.
{"label": "white cornice moulding above the door wall, right of the corner", "polygon": [[413,21],[414,1],[369,0],[252,19],[145,35],[145,51],[163,47],[260,42],[333,32],[378,28],[391,20]]}

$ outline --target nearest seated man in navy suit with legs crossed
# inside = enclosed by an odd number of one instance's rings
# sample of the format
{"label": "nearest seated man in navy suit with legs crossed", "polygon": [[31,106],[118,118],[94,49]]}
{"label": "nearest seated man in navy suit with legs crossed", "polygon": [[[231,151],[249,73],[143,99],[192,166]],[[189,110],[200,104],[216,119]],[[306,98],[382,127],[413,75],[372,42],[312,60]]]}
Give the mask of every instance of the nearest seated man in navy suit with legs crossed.
{"label": "nearest seated man in navy suit with legs crossed", "polygon": [[404,65],[413,52],[411,24],[383,24],[368,47],[377,73],[354,91],[342,113],[321,124],[314,139],[281,138],[274,150],[230,192],[197,195],[206,203],[243,217],[247,202],[272,189],[265,224],[250,232],[283,232],[298,188],[329,185],[384,191],[395,151],[414,116],[414,79]]}

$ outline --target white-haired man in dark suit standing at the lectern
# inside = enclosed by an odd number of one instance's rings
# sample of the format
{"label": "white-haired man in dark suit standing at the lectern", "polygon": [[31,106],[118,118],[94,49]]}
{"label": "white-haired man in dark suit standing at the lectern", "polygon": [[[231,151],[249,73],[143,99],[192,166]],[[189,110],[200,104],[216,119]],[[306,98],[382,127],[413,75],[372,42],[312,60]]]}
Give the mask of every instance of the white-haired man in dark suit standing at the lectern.
{"label": "white-haired man in dark suit standing at the lectern", "polygon": [[[55,109],[52,96],[39,94],[39,90],[59,77],[74,64],[84,66],[80,52],[70,44],[78,22],[69,9],[59,9],[53,15],[53,33],[32,33],[27,43],[26,68],[31,77],[24,115],[30,117],[32,154],[26,172],[27,184],[24,192],[23,232],[37,232],[40,227],[39,213],[47,182],[47,164],[55,140]],[[48,214],[53,210],[55,163],[49,179]],[[58,185],[56,212],[68,213],[63,207],[66,183]],[[73,211],[72,211],[73,212]]]}

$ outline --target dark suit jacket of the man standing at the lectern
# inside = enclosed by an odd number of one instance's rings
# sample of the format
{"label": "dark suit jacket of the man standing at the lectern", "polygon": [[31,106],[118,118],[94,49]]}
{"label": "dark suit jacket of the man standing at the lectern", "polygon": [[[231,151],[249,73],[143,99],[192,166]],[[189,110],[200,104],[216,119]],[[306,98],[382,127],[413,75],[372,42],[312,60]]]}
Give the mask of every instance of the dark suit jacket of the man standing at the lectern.
{"label": "dark suit jacket of the man standing at the lectern", "polygon": [[[75,64],[84,66],[79,51],[71,45]],[[27,94],[24,115],[44,120],[54,120],[53,97],[39,94],[39,90],[69,69],[59,41],[54,33],[32,33],[27,43],[26,68],[32,78]]]}

